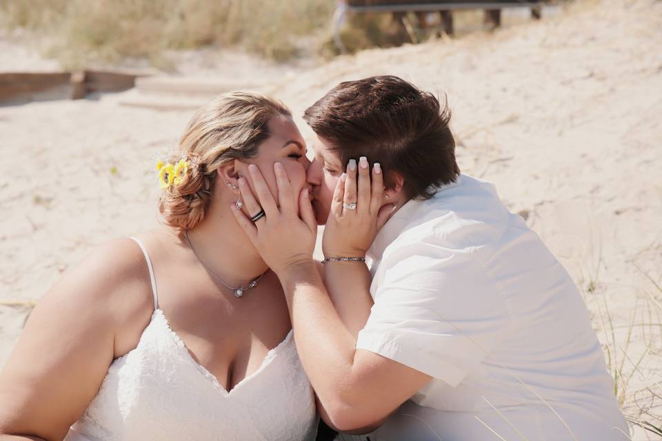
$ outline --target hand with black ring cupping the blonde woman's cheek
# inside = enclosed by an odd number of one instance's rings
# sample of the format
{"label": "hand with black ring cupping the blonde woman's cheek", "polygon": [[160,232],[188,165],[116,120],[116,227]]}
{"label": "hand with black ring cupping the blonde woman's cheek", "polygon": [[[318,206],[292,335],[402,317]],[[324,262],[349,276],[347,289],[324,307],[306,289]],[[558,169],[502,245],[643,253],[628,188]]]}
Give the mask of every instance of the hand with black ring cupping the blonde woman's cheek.
{"label": "hand with black ring cupping the blonde woman's cheek", "polygon": [[[255,195],[246,178],[239,178],[243,203],[248,213],[257,214],[264,210],[265,216],[253,223],[234,204],[231,206],[232,213],[265,263],[278,275],[292,266],[312,262],[317,222],[310,205],[308,188],[294,194],[285,167],[281,163],[275,163],[278,205],[259,168],[251,164],[248,172]],[[301,212],[301,218],[297,211]]]}

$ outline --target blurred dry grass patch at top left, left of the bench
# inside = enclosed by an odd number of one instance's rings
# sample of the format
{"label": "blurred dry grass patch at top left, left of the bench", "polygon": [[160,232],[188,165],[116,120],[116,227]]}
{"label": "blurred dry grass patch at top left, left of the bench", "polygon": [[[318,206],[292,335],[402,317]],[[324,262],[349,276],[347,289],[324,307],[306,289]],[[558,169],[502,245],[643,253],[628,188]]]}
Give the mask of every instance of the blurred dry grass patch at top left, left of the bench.
{"label": "blurred dry grass patch at top left, left of the bench", "polygon": [[239,46],[275,60],[325,32],[329,0],[4,0],[0,25],[41,34],[66,67],[126,57],[159,65],[163,50]]}

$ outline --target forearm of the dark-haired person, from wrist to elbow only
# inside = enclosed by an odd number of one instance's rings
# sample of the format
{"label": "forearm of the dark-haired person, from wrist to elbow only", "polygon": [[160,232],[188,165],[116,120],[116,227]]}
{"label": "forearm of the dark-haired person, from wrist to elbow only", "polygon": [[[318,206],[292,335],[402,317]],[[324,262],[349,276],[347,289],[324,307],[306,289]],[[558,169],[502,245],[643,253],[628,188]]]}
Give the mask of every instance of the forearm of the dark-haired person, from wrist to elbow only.
{"label": "forearm of the dark-haired person, from wrist to elbow only", "polygon": [[338,402],[348,389],[356,340],[334,309],[312,262],[279,277],[303,369],[325,406]]}

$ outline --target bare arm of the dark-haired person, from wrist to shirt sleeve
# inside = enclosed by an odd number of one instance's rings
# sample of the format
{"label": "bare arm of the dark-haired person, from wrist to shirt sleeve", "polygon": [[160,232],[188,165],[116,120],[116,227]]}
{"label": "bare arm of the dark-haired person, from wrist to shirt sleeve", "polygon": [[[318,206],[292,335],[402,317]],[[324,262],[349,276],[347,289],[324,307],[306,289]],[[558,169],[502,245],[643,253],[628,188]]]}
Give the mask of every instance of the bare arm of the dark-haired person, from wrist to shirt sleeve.
{"label": "bare arm of the dark-haired person, from wrist to shirt sleeve", "polygon": [[[410,387],[411,380],[402,369],[412,369],[397,362],[384,365],[385,358],[374,354],[370,358],[365,351],[357,353],[356,338],[334,309],[312,262],[285,271],[279,278],[290,308],[299,358],[322,404],[325,421],[341,431],[363,427],[357,431],[363,433],[379,426],[422,387]],[[406,391],[395,396],[384,393],[384,384],[392,384],[396,378],[402,384],[393,390],[404,387]]]}

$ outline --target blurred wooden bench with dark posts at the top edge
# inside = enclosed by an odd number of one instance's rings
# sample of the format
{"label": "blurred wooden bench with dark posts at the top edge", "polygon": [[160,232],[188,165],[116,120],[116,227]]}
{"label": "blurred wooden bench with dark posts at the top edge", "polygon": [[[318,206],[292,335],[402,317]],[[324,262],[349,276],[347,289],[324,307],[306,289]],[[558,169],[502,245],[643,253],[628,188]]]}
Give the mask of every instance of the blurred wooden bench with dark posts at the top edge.
{"label": "blurred wooden bench with dark posts at the top edge", "polygon": [[337,0],[334,13],[334,41],[339,50],[345,52],[340,30],[348,12],[392,12],[400,19],[403,19],[407,12],[417,14],[439,12],[443,32],[452,35],[452,11],[454,10],[483,9],[485,10],[485,21],[499,26],[501,25],[501,9],[528,7],[531,9],[531,17],[540,19],[543,3],[544,0]]}

